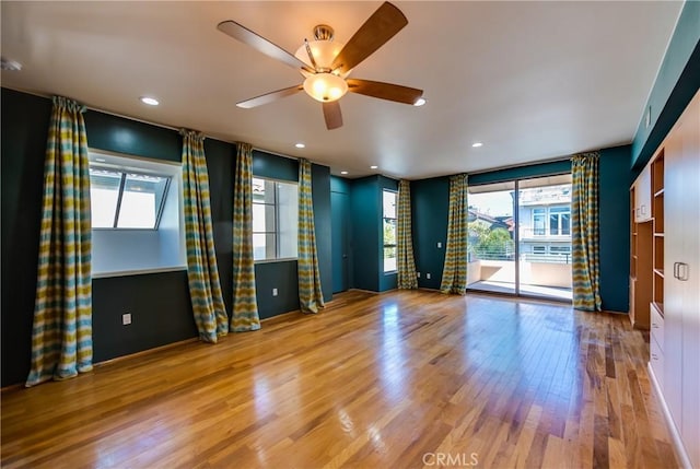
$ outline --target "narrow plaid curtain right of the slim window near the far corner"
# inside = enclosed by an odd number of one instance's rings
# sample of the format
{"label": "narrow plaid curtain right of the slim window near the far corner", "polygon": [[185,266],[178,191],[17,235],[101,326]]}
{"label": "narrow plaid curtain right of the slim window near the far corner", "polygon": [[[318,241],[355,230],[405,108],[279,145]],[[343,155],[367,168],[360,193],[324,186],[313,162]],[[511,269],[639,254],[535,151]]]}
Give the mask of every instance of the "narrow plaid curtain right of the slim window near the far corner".
{"label": "narrow plaid curtain right of the slim window near the far corner", "polygon": [[417,289],[416,260],[413,259],[413,236],[411,234],[411,185],[398,181],[398,227],[397,227],[397,271],[399,289]]}

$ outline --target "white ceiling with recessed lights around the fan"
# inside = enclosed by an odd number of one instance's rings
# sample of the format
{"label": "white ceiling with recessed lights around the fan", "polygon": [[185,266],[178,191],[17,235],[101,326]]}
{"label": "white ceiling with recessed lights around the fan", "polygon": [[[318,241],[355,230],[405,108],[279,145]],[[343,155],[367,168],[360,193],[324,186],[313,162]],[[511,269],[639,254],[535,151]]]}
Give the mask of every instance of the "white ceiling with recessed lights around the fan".
{"label": "white ceiling with recessed lights around the fan", "polygon": [[2,56],[23,65],[2,71],[2,85],[307,157],[334,174],[424,178],[629,143],[682,7],[396,1],[408,26],[351,77],[422,89],[425,106],[349,93],[345,125],[330,131],[303,93],[235,106],[302,77],[220,33],[219,22],[293,54],[319,23],[347,42],[380,4],[2,1]]}

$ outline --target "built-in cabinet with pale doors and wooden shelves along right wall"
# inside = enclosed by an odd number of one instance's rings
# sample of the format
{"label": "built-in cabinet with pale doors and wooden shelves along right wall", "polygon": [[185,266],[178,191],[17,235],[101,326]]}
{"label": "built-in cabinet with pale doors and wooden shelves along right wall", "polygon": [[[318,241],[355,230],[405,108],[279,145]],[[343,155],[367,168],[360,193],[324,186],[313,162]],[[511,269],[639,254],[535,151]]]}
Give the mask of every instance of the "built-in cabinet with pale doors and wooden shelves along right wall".
{"label": "built-in cabinet with pale doors and wooden shelves along right wall", "polygon": [[682,442],[681,464],[700,468],[700,92],[657,154],[664,177],[652,194],[661,220],[654,215],[650,370]]}

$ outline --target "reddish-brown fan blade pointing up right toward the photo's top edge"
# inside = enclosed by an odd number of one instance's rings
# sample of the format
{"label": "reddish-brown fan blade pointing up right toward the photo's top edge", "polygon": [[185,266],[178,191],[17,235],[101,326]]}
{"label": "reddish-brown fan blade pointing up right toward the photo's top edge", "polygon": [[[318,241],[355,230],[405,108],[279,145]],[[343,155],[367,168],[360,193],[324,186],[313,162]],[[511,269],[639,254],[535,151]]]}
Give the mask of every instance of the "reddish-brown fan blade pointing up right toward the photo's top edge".
{"label": "reddish-brown fan blade pointing up right toward the photo's top edge", "polygon": [[408,24],[401,11],[384,2],[348,40],[332,61],[331,69],[345,74],[366,59]]}

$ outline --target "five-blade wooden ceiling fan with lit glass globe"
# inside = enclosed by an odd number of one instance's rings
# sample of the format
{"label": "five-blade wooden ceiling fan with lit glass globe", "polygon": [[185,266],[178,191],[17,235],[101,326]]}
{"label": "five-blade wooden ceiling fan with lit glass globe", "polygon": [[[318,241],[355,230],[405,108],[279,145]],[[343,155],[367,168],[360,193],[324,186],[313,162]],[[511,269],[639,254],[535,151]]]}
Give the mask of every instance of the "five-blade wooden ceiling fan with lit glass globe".
{"label": "five-blade wooden ceiling fan with lit glass globe", "polygon": [[304,39],[304,44],[295,55],[235,21],[223,21],[217,27],[234,39],[299,69],[305,78],[302,84],[242,101],[236,103],[236,106],[256,107],[305,91],[311,97],[323,103],[326,127],[331,130],[342,126],[342,114],[338,99],[349,91],[411,105],[421,98],[422,90],[348,78],[355,66],[382,47],[407,24],[408,20],[398,8],[389,2],[384,2],[345,46],[332,42],[332,27],[320,24],[314,28],[315,40]]}

